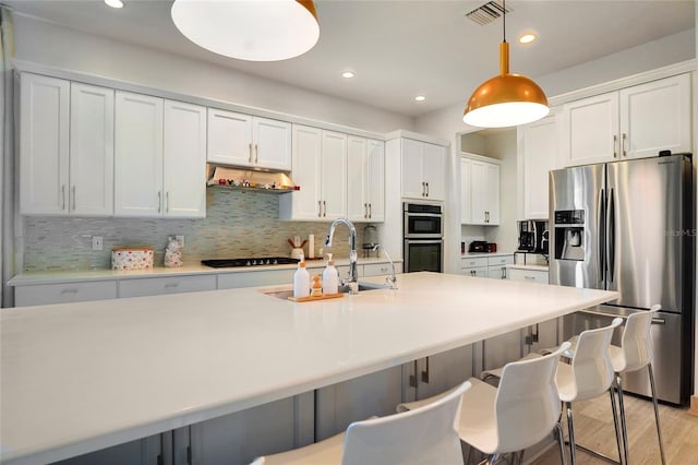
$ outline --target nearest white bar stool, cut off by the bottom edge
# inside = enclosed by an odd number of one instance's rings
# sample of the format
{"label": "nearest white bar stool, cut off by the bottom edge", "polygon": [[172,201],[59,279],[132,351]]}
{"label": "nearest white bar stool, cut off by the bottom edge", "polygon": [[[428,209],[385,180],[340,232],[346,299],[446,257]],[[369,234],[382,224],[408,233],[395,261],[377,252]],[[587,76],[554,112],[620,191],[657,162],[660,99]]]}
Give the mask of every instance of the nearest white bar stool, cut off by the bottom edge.
{"label": "nearest white bar stool, cut off by the bottom edge", "polygon": [[[347,431],[304,448],[257,457],[252,465],[460,464],[458,418],[466,381],[430,405],[356,421]],[[344,442],[344,446],[342,446]]]}

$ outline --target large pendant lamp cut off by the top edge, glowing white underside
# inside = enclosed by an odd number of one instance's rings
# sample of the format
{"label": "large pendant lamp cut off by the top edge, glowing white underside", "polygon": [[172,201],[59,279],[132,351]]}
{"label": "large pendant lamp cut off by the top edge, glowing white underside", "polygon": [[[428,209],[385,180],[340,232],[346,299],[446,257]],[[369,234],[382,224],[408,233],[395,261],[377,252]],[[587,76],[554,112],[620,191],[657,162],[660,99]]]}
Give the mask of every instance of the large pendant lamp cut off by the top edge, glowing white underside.
{"label": "large pendant lamp cut off by the top edge, glowing white underside", "polygon": [[197,46],[249,61],[278,61],[320,37],[311,0],[174,0],[172,21]]}

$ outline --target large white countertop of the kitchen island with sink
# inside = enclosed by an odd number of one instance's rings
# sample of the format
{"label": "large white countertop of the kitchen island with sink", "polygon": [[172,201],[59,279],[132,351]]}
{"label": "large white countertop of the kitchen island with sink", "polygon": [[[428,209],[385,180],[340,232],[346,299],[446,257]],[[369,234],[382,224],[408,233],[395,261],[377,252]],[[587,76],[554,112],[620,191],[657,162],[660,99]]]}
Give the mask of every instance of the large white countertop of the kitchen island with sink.
{"label": "large white countertop of the kitchen island with sink", "polygon": [[306,303],[246,288],[2,309],[0,462],[104,449],[618,296],[436,273],[398,286]]}

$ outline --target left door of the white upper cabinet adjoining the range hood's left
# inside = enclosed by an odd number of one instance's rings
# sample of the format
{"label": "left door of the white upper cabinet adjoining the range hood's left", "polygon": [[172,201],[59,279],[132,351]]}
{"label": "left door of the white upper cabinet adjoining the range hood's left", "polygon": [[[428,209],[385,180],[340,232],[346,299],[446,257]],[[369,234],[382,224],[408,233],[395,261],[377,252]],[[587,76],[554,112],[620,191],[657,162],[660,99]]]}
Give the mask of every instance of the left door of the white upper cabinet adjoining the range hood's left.
{"label": "left door of the white upper cabinet adjoining the range hood's left", "polygon": [[163,99],[117,92],[115,215],[163,214]]}

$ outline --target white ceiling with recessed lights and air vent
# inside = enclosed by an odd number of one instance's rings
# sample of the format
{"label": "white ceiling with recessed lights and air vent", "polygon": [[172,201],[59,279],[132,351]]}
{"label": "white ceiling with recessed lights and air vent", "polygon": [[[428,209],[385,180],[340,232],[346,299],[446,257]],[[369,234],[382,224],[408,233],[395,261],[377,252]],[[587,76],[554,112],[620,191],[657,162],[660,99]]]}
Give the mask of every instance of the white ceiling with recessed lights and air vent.
{"label": "white ceiling with recessed lights and air vent", "polygon": [[[502,20],[481,26],[465,14],[485,0],[316,0],[321,35],[308,53],[245,62],[201,49],[174,27],[171,0],[9,0],[28,14],[125,43],[218,63],[314,92],[419,116],[465,102],[498,73]],[[512,72],[530,78],[695,27],[695,0],[510,0],[506,36]],[[529,46],[516,39],[534,31]],[[344,80],[345,70],[356,72]],[[417,103],[418,94],[426,100]]]}

